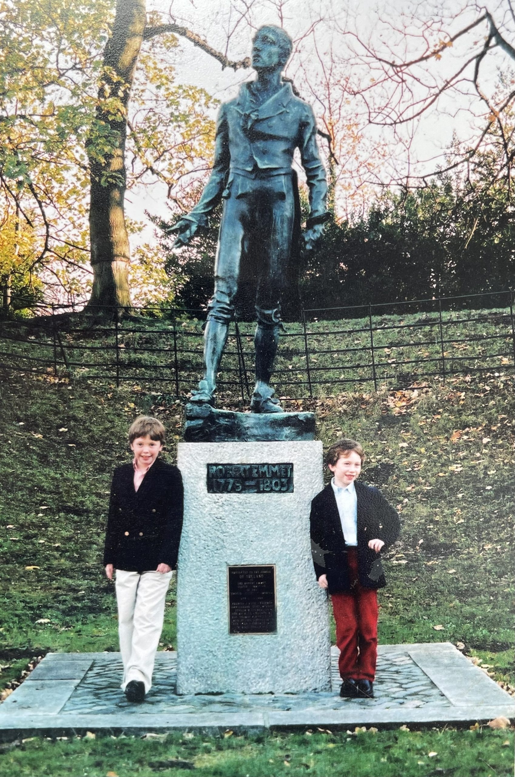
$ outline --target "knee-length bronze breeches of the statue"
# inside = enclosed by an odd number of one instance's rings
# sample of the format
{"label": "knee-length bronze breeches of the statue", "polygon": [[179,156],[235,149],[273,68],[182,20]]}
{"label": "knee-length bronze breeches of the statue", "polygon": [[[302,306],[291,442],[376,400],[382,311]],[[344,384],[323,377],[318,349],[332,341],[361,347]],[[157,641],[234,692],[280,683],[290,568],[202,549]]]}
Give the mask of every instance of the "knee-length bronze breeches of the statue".
{"label": "knee-length bronze breeches of the statue", "polygon": [[256,287],[258,322],[277,326],[294,228],[292,176],[251,179],[233,173],[225,193],[208,318],[231,320],[244,262]]}

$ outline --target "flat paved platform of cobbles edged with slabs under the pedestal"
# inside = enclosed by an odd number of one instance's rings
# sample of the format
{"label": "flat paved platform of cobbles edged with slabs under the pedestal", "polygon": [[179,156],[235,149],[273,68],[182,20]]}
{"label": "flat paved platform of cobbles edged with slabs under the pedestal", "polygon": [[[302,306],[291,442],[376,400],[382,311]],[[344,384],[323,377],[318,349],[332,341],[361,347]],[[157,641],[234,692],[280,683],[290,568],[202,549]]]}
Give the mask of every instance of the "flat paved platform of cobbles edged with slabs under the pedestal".
{"label": "flat paved platform of cobbles edged with slabs under the pedestal", "polygon": [[338,651],[332,693],[176,695],[176,653],[158,653],[141,705],[120,690],[120,653],[48,653],[0,705],[0,738],[106,731],[259,731],[349,728],[515,718],[515,699],[451,643],[381,645],[374,699],[340,699]]}

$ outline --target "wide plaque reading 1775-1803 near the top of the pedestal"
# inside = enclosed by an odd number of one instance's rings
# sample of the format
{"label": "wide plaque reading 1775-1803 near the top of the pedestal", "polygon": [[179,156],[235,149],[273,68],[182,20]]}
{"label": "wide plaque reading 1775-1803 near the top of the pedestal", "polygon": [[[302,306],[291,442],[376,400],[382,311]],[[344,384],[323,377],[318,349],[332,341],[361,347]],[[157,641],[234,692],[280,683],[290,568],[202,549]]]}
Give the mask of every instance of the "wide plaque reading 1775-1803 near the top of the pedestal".
{"label": "wide plaque reading 1775-1803 near the top of the pedestal", "polygon": [[293,493],[294,465],[208,464],[207,493]]}

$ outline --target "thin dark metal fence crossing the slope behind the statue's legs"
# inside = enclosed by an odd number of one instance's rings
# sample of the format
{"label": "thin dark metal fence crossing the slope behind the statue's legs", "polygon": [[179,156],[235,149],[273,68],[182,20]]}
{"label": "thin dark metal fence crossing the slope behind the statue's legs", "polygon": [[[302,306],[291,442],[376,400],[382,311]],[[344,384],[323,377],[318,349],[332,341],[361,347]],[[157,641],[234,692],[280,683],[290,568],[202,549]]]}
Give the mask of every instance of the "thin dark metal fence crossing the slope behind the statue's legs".
{"label": "thin dark metal fence crossing the slope behind the statue's legs", "polygon": [[[515,371],[513,291],[387,305],[304,308],[281,333],[273,384],[288,399],[451,375]],[[468,308],[464,308],[469,300]],[[134,308],[111,319],[58,315],[0,322],[8,371],[151,385],[186,398],[203,370],[203,311]],[[395,311],[395,312],[391,312]],[[423,312],[421,312],[423,311]],[[254,324],[234,322],[218,379],[222,395],[253,389]]]}

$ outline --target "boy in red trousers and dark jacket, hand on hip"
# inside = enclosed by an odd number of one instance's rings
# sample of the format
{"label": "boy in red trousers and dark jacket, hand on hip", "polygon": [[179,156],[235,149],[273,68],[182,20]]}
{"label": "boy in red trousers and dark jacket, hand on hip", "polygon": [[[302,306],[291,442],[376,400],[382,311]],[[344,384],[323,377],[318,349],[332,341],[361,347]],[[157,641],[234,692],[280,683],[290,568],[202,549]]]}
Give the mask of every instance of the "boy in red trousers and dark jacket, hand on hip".
{"label": "boy in red trousers and dark jacket, hand on hip", "polygon": [[331,483],[311,502],[311,549],[318,585],[331,594],[339,647],[339,695],[374,697],[378,653],[377,589],[385,586],[380,552],[398,538],[399,520],[377,488],[357,481],[364,452],[339,440],[326,462]]}

